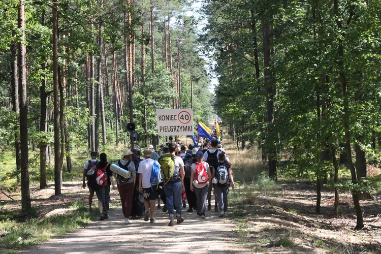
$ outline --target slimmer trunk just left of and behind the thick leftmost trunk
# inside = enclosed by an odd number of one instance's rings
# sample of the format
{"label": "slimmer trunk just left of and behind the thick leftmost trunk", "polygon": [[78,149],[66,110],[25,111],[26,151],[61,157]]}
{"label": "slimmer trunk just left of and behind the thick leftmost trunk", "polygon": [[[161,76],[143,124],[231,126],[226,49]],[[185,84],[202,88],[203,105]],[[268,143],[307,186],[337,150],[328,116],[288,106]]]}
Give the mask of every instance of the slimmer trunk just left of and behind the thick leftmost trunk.
{"label": "slimmer trunk just left of and behind the thick leftmost trunk", "polygon": [[[17,63],[17,49],[16,45],[11,46],[11,71],[12,71],[12,104],[13,112],[16,113],[17,118],[19,118],[20,104],[19,104],[19,88],[18,88],[18,63]],[[20,151],[20,125],[16,121],[14,124],[15,131],[15,157],[16,157],[16,171],[21,172],[21,151]]]}

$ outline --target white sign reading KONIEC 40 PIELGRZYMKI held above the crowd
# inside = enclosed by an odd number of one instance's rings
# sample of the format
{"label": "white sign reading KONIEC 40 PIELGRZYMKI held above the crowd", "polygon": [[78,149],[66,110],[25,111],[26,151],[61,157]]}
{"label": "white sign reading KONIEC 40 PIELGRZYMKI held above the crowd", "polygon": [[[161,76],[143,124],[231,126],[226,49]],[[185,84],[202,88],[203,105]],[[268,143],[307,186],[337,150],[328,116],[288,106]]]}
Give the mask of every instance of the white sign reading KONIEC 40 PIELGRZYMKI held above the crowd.
{"label": "white sign reading KONIEC 40 PIELGRZYMKI held above the crowd", "polygon": [[194,135],[192,109],[156,109],[157,134]]}

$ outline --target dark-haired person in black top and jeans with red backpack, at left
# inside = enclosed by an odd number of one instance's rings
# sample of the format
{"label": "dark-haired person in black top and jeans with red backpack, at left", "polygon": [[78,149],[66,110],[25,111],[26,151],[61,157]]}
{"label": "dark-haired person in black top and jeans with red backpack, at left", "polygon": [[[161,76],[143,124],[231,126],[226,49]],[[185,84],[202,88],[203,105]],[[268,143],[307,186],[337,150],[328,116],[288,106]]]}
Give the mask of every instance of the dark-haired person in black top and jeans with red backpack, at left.
{"label": "dark-haired person in black top and jeans with red backpack, at left", "polygon": [[110,185],[112,185],[112,189],[115,189],[114,181],[112,179],[112,171],[110,170],[110,164],[107,163],[107,155],[102,152],[99,155],[100,162],[97,163],[94,167],[97,167],[98,170],[103,171],[105,176],[103,179],[106,180],[104,185],[99,186],[99,188],[95,191],[98,198],[98,209],[101,213],[99,220],[104,220],[109,218],[108,210],[110,203]]}

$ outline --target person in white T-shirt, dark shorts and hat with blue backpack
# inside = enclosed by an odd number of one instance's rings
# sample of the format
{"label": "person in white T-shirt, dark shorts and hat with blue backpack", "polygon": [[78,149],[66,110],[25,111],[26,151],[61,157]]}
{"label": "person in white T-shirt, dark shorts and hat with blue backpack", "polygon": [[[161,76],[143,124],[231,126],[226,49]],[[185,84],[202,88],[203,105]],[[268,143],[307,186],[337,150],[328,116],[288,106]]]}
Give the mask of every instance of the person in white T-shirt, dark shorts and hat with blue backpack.
{"label": "person in white T-shirt, dark shorts and hat with blue backpack", "polygon": [[151,172],[152,168],[157,166],[160,168],[160,164],[157,161],[151,159],[152,151],[146,149],[143,151],[144,160],[139,164],[138,174],[139,177],[139,192],[144,197],[145,215],[144,220],[150,220],[150,223],[154,223],[155,201],[157,199],[156,185],[151,184]]}

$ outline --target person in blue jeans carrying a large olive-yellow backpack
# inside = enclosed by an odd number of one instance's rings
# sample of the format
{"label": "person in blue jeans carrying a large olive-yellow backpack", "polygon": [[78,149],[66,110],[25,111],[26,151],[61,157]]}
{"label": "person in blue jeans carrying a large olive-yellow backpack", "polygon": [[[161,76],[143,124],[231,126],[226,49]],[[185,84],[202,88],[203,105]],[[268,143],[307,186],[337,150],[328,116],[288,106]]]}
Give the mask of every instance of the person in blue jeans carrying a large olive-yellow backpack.
{"label": "person in blue jeans carrying a large olive-yellow backpack", "polygon": [[[159,159],[160,166],[163,171],[164,193],[166,195],[166,208],[169,214],[168,226],[174,226],[174,209],[176,209],[177,224],[184,221],[181,216],[182,212],[182,193],[185,192],[184,187],[184,162],[179,156],[176,156],[177,144],[168,144],[169,153],[163,155]],[[173,165],[174,164],[174,165]],[[173,176],[169,176],[168,166],[173,166]],[[165,172],[166,171],[166,172]],[[167,173],[167,174],[166,174]]]}

